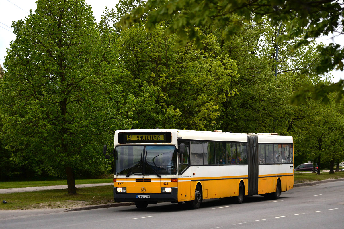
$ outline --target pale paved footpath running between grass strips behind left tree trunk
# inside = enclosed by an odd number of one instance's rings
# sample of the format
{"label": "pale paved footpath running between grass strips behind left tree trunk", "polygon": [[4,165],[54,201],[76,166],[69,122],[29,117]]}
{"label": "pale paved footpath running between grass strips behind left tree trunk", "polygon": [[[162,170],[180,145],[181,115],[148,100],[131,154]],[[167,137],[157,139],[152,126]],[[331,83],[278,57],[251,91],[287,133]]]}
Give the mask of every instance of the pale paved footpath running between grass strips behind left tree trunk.
{"label": "pale paved footpath running between grass strips behind left tree trunk", "polygon": [[[101,183],[101,184],[76,184],[76,188],[86,188],[86,187],[95,187],[95,186],[107,186],[114,185],[111,183]],[[15,192],[34,192],[42,190],[54,190],[54,189],[66,189],[67,185],[55,185],[55,186],[40,186],[40,187],[26,187],[26,188],[3,188],[0,189],[1,193],[15,193]]]}

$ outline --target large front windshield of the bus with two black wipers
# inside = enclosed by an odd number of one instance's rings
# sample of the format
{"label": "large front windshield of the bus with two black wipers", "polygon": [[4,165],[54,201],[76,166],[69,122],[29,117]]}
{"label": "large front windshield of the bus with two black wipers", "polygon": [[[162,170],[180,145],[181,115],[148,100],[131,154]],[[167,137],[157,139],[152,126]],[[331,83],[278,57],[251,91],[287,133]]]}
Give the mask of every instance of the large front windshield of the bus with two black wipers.
{"label": "large front windshield of the bus with two black wipers", "polygon": [[140,145],[115,148],[117,175],[174,175],[177,174],[175,146]]}

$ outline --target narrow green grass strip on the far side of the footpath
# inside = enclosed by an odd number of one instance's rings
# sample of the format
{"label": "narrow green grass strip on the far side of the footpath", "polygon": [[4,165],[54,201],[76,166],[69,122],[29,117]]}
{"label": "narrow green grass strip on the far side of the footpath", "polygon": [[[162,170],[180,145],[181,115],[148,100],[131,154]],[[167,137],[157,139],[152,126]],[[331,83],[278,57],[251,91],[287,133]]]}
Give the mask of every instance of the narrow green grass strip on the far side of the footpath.
{"label": "narrow green grass strip on the far side of the footpath", "polygon": [[[113,182],[113,175],[111,178],[105,179],[83,179],[75,180],[75,184],[101,184]],[[24,187],[39,187],[39,186],[55,186],[67,185],[66,180],[57,181],[14,181],[14,182],[1,182],[0,188],[24,188]]]}

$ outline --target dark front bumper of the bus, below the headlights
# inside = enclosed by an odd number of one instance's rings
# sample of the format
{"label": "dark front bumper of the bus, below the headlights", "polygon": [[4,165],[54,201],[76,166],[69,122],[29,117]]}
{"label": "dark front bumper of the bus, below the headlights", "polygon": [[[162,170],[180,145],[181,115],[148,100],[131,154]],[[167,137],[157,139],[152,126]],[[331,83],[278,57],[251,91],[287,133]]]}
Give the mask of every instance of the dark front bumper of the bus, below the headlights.
{"label": "dark front bumper of the bus, below the headlights", "polygon": [[[149,196],[149,198],[138,198],[138,196]],[[117,193],[117,187],[114,187],[114,201],[116,202],[135,202],[135,201],[178,202],[178,187],[172,187],[171,193]]]}

